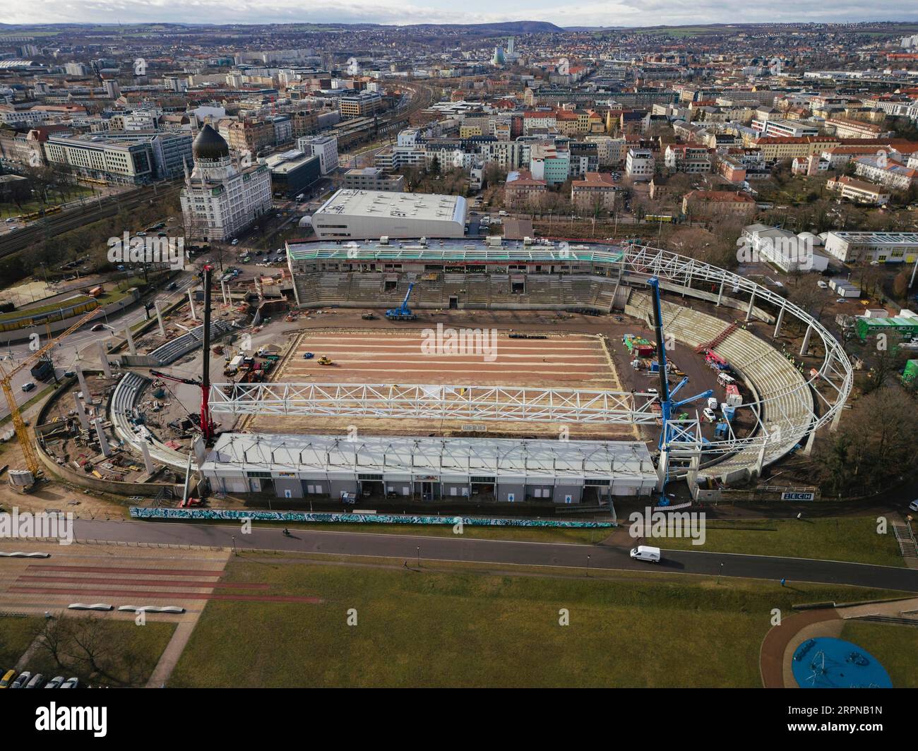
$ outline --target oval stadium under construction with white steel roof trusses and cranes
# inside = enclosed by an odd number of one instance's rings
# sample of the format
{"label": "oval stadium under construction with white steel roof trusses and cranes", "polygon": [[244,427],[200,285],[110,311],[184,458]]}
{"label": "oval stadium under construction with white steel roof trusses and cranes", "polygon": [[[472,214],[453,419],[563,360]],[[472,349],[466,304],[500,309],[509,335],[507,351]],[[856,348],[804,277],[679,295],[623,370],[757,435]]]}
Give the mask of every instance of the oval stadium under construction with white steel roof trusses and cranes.
{"label": "oval stadium under construction with white steel roof trusses and cranes", "polygon": [[[137,424],[151,380],[129,358],[111,392],[118,440],[201,495],[541,510],[680,479],[698,496],[808,452],[851,388],[839,342],[788,299],[635,243],[292,242],[287,263],[280,301],[307,322],[267,377],[194,381],[211,446],[189,457]],[[444,320],[493,330],[496,356],[444,349]]]}

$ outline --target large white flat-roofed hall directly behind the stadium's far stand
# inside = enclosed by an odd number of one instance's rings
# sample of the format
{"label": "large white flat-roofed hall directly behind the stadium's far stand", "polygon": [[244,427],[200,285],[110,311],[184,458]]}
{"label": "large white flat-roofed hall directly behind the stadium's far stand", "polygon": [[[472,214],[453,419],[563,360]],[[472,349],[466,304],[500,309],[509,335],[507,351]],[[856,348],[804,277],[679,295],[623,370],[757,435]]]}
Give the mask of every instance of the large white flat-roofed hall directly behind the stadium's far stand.
{"label": "large white flat-roofed hall directly behind the stadium's far stand", "polygon": [[320,240],[461,238],[468,204],[462,196],[339,190],[312,215]]}

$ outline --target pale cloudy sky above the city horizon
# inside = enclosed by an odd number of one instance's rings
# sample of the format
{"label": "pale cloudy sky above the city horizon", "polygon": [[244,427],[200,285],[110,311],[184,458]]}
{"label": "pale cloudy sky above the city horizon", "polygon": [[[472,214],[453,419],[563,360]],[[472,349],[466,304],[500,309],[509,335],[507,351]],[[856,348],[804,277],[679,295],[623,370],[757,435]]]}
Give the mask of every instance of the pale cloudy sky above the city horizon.
{"label": "pale cloudy sky above the city horizon", "polygon": [[13,0],[7,23],[177,21],[185,23],[483,23],[551,21],[558,26],[651,26],[745,21],[915,20],[914,0]]}

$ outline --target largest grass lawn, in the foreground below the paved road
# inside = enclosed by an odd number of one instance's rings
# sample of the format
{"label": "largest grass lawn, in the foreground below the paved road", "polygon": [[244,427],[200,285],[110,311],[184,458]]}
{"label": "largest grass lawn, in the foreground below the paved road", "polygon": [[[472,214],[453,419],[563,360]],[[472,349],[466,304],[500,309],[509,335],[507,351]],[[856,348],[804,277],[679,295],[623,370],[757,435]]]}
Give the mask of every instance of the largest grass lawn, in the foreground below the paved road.
{"label": "largest grass lawn, in the foreground below the paved road", "polygon": [[[170,685],[756,687],[772,608],[890,597],[742,579],[325,561],[233,558],[223,581],[322,602],[208,602]],[[346,622],[351,609],[356,625]]]}

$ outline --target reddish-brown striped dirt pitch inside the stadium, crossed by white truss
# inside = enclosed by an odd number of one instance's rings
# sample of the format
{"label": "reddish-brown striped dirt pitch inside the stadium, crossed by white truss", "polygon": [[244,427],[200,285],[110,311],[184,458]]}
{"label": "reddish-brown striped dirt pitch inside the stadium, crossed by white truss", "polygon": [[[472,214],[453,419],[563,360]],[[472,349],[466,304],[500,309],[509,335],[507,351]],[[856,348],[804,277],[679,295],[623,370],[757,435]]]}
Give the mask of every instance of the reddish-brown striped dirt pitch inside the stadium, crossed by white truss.
{"label": "reddish-brown striped dirt pitch inside the stadium, crossed by white truss", "polygon": [[[532,335],[532,332],[530,332]],[[546,334],[546,339],[511,339],[509,332],[417,326],[401,331],[306,331],[274,381],[367,383],[386,386],[453,385],[559,387],[621,390],[604,339],[591,334]],[[305,353],[313,353],[304,359]],[[320,365],[319,357],[333,364]],[[260,432],[343,432],[348,425],[374,434],[475,434],[453,420],[354,420],[255,418]],[[466,426],[467,428],[468,426]],[[555,435],[560,425],[536,422],[476,423],[488,435]],[[569,425],[572,438],[634,440],[627,426]]]}

